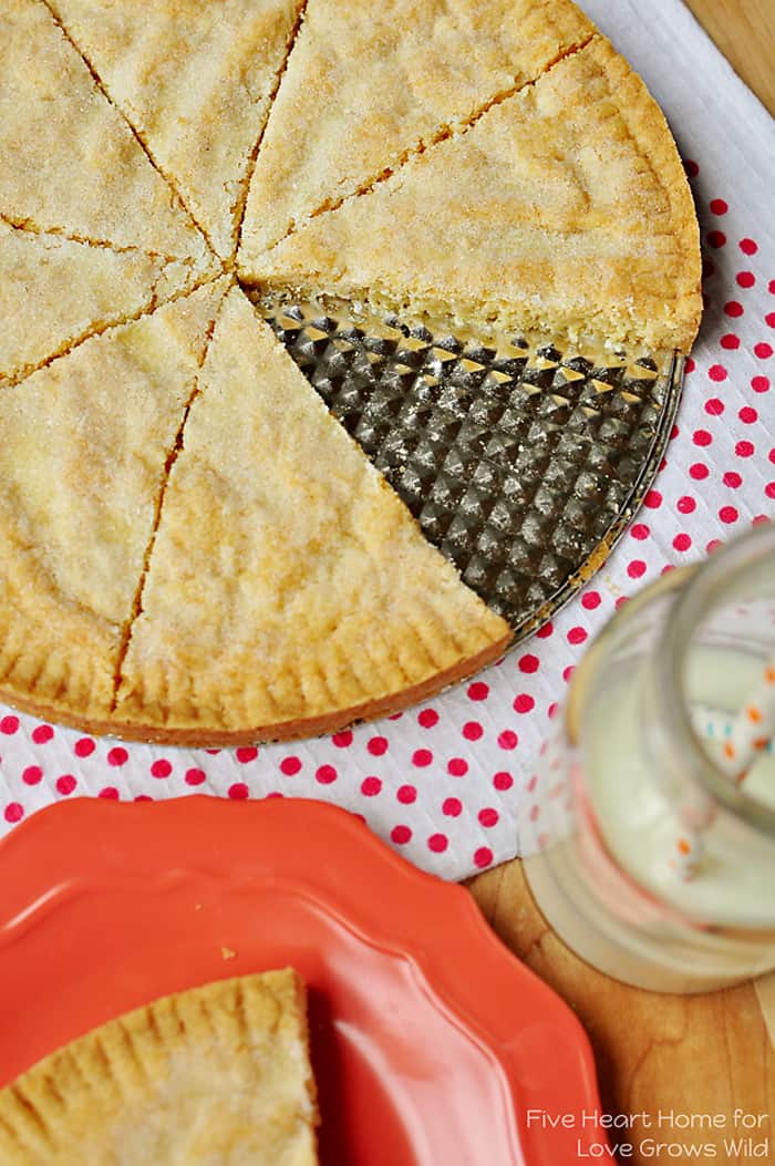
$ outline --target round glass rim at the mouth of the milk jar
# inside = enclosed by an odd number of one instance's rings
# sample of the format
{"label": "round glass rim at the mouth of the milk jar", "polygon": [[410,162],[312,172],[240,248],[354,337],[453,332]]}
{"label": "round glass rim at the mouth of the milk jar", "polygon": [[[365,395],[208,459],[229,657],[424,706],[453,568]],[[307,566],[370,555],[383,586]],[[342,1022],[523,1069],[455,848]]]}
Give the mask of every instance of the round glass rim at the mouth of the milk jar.
{"label": "round glass rim at the mouth of the milk jar", "polygon": [[756,526],[716,550],[705,562],[685,569],[689,583],[670,610],[655,652],[660,670],[655,693],[658,714],[670,739],[676,743],[682,757],[691,757],[695,761],[691,766],[693,780],[735,817],[775,837],[775,809],[748,796],[745,787],[731,781],[703,749],[691,723],[684,684],[686,654],[693,633],[709,610],[732,595],[752,569],[770,557],[775,563],[775,522]]}

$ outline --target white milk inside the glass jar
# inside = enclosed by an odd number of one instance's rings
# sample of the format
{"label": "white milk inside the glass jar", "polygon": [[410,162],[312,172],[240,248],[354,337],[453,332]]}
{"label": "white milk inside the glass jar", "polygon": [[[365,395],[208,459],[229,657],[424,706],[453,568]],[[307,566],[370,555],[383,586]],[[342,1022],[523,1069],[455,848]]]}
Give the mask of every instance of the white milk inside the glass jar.
{"label": "white milk inside the glass jar", "polygon": [[[686,691],[709,756],[720,750],[731,724],[751,696],[763,661],[744,652],[696,647],[689,659]],[[600,693],[585,717],[585,779],[607,848],[641,885],[702,920],[730,926],[775,926],[775,843],[748,838],[745,859],[718,820],[704,834],[704,854],[693,878],[670,865],[684,833],[675,807],[653,772],[643,744],[639,686],[618,683]],[[732,779],[730,779],[732,780]],[[775,754],[760,754],[747,775],[746,796],[775,809]],[[737,841],[737,840],[735,840]]]}

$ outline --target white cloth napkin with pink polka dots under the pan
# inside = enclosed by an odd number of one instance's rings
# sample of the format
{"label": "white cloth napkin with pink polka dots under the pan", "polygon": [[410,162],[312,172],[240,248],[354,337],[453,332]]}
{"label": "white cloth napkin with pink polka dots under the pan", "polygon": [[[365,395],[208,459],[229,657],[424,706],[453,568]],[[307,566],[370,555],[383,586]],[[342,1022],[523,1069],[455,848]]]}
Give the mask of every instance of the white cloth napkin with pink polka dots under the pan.
{"label": "white cloth napkin with pink polka dots under the pan", "polygon": [[515,812],[590,638],[670,567],[775,514],[775,131],[679,0],[589,0],[671,124],[703,233],[706,311],[660,477],[586,590],[473,682],[297,745],[176,750],[93,740],[0,709],[0,828],[78,795],[305,796],[358,814],[459,879],[517,852]]}

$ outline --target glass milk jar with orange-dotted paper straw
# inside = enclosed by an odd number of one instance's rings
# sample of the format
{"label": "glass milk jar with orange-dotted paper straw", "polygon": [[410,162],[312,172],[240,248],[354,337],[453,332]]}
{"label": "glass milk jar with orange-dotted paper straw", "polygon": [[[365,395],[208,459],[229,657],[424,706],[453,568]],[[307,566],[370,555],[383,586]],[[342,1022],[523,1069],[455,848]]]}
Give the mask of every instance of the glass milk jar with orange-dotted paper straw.
{"label": "glass milk jar with orange-dotted paper straw", "polygon": [[740,782],[721,756],[774,653],[766,524],[629,600],[576,670],[520,843],[538,907],[603,971],[689,992],[775,967],[773,744]]}

